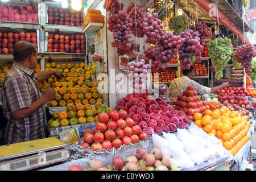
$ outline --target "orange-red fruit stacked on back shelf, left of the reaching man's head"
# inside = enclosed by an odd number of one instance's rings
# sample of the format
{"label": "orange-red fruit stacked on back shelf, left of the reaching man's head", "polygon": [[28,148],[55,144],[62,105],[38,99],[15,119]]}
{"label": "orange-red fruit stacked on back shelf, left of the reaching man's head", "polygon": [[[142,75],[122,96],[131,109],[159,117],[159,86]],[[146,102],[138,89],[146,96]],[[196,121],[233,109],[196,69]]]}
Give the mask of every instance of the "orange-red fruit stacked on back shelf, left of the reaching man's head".
{"label": "orange-red fruit stacked on back shelf, left of the reaching man's head", "polygon": [[[152,82],[155,82],[155,74],[158,74],[158,80],[159,82],[167,82],[172,81],[175,78],[177,78],[177,68],[167,68],[167,69],[158,69],[156,71],[151,72],[151,80]],[[157,76],[156,76],[157,77]]]}

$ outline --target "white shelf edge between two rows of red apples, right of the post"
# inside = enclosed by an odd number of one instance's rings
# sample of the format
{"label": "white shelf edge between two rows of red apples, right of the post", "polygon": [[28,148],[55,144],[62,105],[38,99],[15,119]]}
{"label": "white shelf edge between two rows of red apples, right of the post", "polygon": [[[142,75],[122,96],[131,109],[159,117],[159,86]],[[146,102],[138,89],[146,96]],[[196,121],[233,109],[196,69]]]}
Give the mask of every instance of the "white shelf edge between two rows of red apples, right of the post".
{"label": "white shelf edge between two rows of red apples, right of the post", "polygon": [[60,34],[67,34],[68,33],[82,33],[82,27],[76,26],[66,26],[66,25],[59,25],[59,24],[46,24],[44,31],[56,33],[59,31]]}

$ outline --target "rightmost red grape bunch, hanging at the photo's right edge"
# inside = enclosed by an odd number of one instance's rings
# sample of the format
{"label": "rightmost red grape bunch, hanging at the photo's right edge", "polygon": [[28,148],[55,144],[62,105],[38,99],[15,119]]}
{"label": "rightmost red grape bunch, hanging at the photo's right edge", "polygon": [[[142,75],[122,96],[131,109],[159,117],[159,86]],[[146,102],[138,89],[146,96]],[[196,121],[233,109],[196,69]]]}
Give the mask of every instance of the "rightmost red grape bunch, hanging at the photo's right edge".
{"label": "rightmost red grape bunch, hanging at the photo's right edge", "polygon": [[237,47],[234,51],[234,57],[238,60],[238,63],[245,68],[246,73],[252,72],[251,60],[256,56],[256,49],[253,45],[247,44],[244,46]]}

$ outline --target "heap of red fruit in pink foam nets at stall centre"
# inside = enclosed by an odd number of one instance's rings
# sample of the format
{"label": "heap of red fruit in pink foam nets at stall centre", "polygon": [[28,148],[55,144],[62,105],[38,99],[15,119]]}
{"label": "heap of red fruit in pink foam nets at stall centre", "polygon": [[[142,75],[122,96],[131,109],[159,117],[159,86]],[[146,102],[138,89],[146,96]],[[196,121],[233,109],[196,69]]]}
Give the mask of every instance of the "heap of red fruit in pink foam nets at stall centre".
{"label": "heap of red fruit in pink foam nets at stall centre", "polygon": [[129,117],[147,133],[174,132],[189,126],[183,110],[175,110],[166,101],[157,102],[150,94],[128,94],[119,101],[117,110],[126,110]]}

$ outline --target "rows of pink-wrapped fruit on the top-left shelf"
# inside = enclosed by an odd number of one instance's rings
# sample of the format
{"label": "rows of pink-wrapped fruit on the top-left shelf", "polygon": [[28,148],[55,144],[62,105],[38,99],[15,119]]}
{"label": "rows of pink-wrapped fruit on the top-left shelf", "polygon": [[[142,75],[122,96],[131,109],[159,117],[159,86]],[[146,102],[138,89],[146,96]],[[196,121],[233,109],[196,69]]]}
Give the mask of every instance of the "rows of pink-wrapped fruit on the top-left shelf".
{"label": "rows of pink-wrapped fruit on the top-left shelf", "polygon": [[38,23],[38,5],[7,5],[0,3],[0,20]]}

